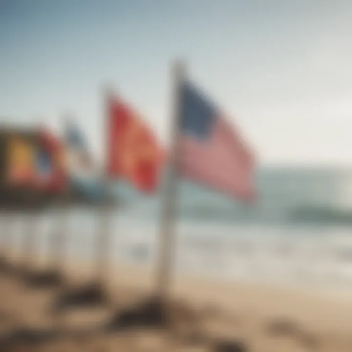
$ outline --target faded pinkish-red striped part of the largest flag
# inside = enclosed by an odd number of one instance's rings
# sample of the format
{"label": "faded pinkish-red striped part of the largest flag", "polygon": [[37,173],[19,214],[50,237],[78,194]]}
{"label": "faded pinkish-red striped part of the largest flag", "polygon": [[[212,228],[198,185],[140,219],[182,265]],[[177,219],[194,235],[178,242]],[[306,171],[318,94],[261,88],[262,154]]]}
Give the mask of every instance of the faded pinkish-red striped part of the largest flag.
{"label": "faded pinkish-red striped part of the largest flag", "polygon": [[181,136],[179,155],[181,175],[235,197],[253,194],[251,154],[222,119],[206,140]]}

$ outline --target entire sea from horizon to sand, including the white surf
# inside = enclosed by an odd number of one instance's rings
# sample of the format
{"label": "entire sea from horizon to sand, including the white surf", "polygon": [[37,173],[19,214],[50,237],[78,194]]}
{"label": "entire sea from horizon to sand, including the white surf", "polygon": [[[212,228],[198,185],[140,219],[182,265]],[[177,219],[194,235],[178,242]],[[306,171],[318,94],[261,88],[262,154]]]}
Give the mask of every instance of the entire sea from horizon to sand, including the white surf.
{"label": "entire sea from horizon to sand, including the white surf", "polygon": [[[179,181],[176,271],[221,280],[352,291],[352,170],[266,167],[256,173],[252,205]],[[154,265],[161,192],[111,186],[123,201],[111,212],[111,260]],[[74,209],[67,220],[70,258],[93,258],[99,212]],[[23,224],[18,229],[23,228]],[[14,243],[20,246],[23,231]],[[47,250],[53,212],[40,220]],[[16,246],[16,245],[15,245]]]}

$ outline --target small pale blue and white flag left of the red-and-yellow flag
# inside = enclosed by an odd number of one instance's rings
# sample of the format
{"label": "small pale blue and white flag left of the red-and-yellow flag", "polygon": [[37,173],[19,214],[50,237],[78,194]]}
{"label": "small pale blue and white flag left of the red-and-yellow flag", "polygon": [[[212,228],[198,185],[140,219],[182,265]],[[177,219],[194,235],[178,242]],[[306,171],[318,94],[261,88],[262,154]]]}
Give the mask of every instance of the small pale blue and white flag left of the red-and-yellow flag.
{"label": "small pale blue and white flag left of the red-and-yellow flag", "polygon": [[86,138],[73,121],[65,126],[65,144],[70,173],[85,174],[92,170],[92,160],[88,152]]}

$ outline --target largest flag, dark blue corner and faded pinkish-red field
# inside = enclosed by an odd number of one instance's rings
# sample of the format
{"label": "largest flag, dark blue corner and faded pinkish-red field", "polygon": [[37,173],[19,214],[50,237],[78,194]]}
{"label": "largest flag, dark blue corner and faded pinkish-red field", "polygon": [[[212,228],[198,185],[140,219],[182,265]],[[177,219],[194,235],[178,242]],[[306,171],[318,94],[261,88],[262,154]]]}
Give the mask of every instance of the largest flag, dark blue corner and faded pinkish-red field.
{"label": "largest flag, dark blue corner and faded pinkish-red field", "polygon": [[254,162],[240,134],[192,83],[180,86],[178,173],[221,193],[249,200]]}

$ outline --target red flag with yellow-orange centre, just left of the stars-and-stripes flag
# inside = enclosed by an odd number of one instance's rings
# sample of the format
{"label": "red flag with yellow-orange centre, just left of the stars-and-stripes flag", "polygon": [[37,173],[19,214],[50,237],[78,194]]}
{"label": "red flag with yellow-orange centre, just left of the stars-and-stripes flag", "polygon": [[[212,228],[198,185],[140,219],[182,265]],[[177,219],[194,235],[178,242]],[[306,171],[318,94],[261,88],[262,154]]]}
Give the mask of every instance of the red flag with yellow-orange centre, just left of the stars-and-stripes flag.
{"label": "red flag with yellow-orange centre, just left of the stars-and-stripes flag", "polygon": [[152,131],[118,98],[108,102],[108,176],[130,181],[153,192],[158,185],[163,152]]}

